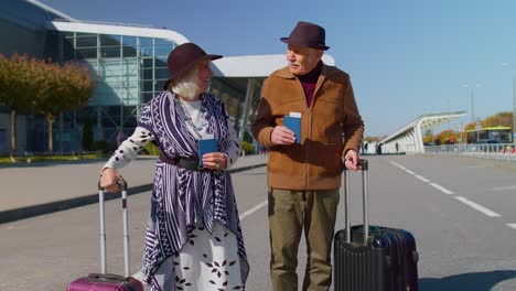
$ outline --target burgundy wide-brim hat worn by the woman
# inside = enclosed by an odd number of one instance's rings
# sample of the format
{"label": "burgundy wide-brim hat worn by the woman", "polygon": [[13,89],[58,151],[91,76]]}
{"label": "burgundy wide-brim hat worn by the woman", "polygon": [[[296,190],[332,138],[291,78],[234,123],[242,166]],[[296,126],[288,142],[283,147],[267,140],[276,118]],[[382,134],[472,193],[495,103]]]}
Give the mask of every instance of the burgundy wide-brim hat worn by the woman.
{"label": "burgundy wide-brim hat worn by the woman", "polygon": [[189,71],[193,64],[203,60],[217,60],[223,57],[222,55],[207,54],[195,43],[183,43],[172,50],[169,54],[166,65],[169,67],[169,79],[163,85],[163,89],[166,90],[172,80],[181,76],[183,73]]}

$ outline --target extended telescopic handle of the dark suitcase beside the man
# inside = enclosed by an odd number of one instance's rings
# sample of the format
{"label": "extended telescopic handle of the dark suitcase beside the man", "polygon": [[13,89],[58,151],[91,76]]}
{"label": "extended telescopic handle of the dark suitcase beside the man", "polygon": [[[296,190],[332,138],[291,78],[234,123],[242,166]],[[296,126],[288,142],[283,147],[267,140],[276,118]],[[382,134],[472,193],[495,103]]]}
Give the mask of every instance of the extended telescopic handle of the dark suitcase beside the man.
{"label": "extended telescopic handle of the dark suitcase beside the man", "polygon": [[[363,220],[364,220],[364,246],[367,245],[369,236],[369,209],[367,207],[368,193],[367,193],[367,171],[369,163],[367,160],[361,159],[358,165],[362,168],[362,193],[363,193]],[[351,211],[350,211],[350,171],[344,169],[344,208],[345,208],[345,225],[346,225],[346,242],[351,242]]]}

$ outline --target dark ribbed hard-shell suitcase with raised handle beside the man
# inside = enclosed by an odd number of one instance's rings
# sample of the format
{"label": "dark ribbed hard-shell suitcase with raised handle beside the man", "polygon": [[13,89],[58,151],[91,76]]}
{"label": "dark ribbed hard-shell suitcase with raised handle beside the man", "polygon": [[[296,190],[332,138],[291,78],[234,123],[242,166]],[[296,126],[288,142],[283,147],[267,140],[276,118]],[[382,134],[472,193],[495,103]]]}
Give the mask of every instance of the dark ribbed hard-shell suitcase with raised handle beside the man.
{"label": "dark ribbed hard-shell suitcase with raised handle beside the man", "polygon": [[351,227],[350,173],[345,171],[345,229],[334,239],[335,291],[417,291],[416,239],[404,229],[369,226],[368,163],[361,160],[364,225]]}

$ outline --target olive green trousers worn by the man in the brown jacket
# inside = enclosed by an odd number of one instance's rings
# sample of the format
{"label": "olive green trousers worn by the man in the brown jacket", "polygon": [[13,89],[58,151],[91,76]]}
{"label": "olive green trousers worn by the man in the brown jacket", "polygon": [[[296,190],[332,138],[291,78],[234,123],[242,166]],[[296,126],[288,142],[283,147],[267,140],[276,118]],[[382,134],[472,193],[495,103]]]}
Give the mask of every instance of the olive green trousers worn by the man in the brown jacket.
{"label": "olive green trousers worn by the man in the brown jacket", "polygon": [[269,188],[270,274],[275,291],[298,291],[298,248],[304,229],[307,271],[302,290],[329,290],[338,190]]}

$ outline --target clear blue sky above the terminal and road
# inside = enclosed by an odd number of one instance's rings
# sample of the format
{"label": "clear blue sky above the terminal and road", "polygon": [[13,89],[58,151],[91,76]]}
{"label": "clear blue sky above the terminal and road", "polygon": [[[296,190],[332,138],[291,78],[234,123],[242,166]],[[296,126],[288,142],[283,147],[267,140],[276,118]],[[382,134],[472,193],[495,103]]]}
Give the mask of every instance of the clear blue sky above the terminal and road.
{"label": "clear blue sky above the terminal and road", "polygon": [[298,21],[320,24],[326,53],[351,75],[366,137],[394,133],[421,115],[466,111],[436,129],[456,130],[472,121],[472,99],[475,119],[513,111],[512,0],[40,2],[78,20],[164,26],[225,56],[284,54],[279,39]]}

